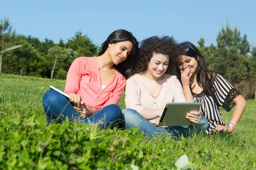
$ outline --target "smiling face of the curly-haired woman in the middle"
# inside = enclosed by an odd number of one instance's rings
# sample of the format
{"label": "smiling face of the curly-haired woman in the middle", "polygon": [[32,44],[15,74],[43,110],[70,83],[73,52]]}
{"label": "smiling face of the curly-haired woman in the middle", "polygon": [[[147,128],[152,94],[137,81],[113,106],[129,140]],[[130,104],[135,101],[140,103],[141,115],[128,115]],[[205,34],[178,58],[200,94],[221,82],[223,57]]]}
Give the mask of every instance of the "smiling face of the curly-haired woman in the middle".
{"label": "smiling face of the curly-haired woman in the middle", "polygon": [[153,78],[160,78],[166,72],[169,65],[170,57],[164,54],[153,53],[153,56],[148,63],[147,73]]}

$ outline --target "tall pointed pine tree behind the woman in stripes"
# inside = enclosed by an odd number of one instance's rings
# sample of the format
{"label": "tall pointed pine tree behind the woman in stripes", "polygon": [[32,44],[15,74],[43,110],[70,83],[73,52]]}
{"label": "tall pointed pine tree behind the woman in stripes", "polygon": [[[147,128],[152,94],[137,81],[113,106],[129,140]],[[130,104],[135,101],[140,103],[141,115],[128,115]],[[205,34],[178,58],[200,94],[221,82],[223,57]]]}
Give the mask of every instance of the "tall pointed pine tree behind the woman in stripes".
{"label": "tall pointed pine tree behind the woman in stripes", "polygon": [[229,82],[241,82],[248,76],[247,56],[250,45],[246,34],[241,38],[240,31],[227,25],[217,35],[217,51],[214,54],[213,69],[222,74]]}

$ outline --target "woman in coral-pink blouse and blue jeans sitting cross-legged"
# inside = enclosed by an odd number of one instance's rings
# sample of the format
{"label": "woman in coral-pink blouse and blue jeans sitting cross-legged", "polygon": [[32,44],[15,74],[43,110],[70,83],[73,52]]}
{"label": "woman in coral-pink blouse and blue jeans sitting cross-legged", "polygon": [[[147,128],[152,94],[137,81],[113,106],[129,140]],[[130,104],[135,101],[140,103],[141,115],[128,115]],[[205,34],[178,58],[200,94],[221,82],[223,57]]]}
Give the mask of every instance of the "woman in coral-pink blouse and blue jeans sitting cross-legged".
{"label": "woman in coral-pink blouse and blue jeans sitting cross-legged", "polygon": [[75,106],[57,91],[47,91],[43,97],[47,123],[65,121],[66,116],[83,123],[102,121],[101,127],[124,122],[117,103],[126,79],[133,72],[137,53],[136,38],[131,32],[120,29],[111,33],[102,44],[99,57],[75,59],[67,73],[65,86],[65,93]]}

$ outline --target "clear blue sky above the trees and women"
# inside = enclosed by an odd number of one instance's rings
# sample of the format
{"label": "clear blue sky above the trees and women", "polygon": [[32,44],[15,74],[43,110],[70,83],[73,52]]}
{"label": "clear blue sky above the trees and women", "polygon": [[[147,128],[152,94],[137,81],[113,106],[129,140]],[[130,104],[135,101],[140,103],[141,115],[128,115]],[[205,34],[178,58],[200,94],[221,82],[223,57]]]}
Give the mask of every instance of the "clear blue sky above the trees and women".
{"label": "clear blue sky above the trees and women", "polygon": [[[65,42],[81,31],[101,45],[116,29],[131,31],[137,40],[154,35],[178,42],[216,45],[227,16],[231,27],[256,44],[254,0],[0,0],[0,17],[9,17],[17,33]],[[4,6],[4,8],[2,8]]]}

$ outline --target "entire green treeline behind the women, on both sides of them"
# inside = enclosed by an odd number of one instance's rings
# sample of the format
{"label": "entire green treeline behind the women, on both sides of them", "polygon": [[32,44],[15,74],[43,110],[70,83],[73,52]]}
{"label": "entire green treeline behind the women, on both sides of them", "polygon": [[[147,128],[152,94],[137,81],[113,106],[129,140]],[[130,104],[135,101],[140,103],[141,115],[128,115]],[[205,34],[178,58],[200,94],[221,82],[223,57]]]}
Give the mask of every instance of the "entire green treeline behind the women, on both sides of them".
{"label": "entire green treeline behind the women, on both sides of them", "polygon": [[[256,46],[252,45],[251,49],[247,35],[241,35],[237,27],[231,28],[228,21],[219,31],[216,41],[217,46],[205,46],[204,38],[198,40],[207,67],[222,74],[244,97],[253,98],[256,91]],[[0,51],[15,45],[23,46],[1,53],[0,73],[65,79],[74,59],[97,56],[100,50],[80,31],[66,43],[62,39],[55,43],[47,38],[41,42],[36,37],[17,34],[9,18],[1,18]]]}

